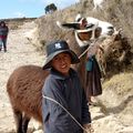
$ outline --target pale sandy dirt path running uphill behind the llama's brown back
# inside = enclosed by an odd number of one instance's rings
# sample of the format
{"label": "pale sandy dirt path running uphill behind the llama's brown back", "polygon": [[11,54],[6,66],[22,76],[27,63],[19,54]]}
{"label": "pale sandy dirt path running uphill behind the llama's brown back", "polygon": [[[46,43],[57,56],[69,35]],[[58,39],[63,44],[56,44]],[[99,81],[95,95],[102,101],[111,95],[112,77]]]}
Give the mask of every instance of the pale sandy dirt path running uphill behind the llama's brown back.
{"label": "pale sandy dirt path running uphill behind the llama's brown back", "polygon": [[25,32],[32,30],[34,23],[25,23],[22,29],[12,30],[8,37],[8,52],[0,52],[0,133],[14,129],[14,121],[6,84],[11,72],[23,64],[43,65],[44,55],[25,39]]}

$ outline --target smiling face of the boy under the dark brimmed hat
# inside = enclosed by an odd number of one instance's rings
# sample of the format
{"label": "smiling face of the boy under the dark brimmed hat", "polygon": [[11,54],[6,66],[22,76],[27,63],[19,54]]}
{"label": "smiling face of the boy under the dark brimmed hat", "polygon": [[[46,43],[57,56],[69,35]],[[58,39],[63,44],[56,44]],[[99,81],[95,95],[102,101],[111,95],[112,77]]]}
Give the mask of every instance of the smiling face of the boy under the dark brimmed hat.
{"label": "smiling face of the boy under the dark brimmed hat", "polygon": [[51,61],[51,65],[64,75],[69,74],[71,57],[69,53],[59,53]]}

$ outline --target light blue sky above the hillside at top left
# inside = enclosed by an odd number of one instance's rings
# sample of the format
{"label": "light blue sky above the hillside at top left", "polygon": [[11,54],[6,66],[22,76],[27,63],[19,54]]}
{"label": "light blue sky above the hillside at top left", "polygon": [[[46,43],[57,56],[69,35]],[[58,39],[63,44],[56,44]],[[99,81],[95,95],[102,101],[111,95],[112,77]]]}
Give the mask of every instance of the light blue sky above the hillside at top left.
{"label": "light blue sky above the hillside at top left", "polygon": [[79,0],[1,0],[0,19],[34,18],[44,14],[44,7],[54,3],[58,9],[64,9]]}

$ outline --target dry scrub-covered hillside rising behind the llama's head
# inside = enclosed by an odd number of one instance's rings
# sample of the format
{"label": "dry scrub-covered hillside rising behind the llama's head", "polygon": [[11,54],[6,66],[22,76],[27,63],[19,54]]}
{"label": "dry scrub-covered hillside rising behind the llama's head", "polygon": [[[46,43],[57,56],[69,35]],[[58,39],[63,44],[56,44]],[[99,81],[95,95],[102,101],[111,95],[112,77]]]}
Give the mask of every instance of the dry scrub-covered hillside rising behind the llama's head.
{"label": "dry scrub-covered hillside rising behind the llama's head", "polygon": [[[37,20],[39,28],[39,40],[49,42],[51,39],[63,38],[63,33],[57,27],[55,21],[72,22],[78,13],[84,17],[94,17],[103,21],[109,21],[116,27],[122,28],[123,35],[129,38],[131,45],[133,47],[133,1],[132,0],[105,0],[103,10],[98,9],[93,11],[92,0],[82,0],[64,10],[55,11],[52,14],[42,16]],[[51,30],[52,29],[52,30]],[[54,29],[54,30],[53,30]],[[61,35],[62,33],[62,35]]]}

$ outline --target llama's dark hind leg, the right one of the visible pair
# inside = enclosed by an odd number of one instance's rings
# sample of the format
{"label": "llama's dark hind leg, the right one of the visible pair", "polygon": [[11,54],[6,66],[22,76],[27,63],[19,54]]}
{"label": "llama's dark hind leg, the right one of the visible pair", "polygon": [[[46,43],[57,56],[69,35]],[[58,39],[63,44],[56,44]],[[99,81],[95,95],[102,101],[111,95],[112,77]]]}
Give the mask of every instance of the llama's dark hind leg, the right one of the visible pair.
{"label": "llama's dark hind leg, the right one of the visible pair", "polygon": [[22,133],[27,133],[29,122],[30,117],[24,114],[22,119]]}

